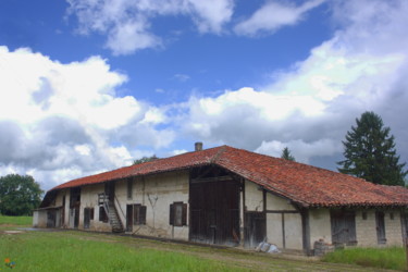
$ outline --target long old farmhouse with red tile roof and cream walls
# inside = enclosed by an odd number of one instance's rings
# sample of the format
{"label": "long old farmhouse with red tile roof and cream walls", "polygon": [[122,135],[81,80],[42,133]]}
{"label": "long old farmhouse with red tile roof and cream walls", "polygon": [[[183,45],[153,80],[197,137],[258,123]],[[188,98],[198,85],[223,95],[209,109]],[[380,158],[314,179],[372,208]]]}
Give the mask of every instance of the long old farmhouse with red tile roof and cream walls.
{"label": "long old farmhouse with red tile roof and cream walls", "polygon": [[77,178],[47,191],[36,227],[67,227],[312,254],[400,246],[408,189],[228,146]]}

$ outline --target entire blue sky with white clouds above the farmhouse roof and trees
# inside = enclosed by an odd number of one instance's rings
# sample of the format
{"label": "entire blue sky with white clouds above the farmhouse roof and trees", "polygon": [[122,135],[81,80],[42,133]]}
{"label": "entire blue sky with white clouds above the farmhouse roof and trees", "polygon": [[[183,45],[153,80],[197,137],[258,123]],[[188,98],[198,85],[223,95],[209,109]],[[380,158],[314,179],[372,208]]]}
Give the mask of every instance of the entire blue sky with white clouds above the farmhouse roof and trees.
{"label": "entire blue sky with white clouds above the farmhouse roof and trees", "polygon": [[362,112],[408,159],[408,3],[1,0],[0,174],[45,189],[230,145],[335,170]]}

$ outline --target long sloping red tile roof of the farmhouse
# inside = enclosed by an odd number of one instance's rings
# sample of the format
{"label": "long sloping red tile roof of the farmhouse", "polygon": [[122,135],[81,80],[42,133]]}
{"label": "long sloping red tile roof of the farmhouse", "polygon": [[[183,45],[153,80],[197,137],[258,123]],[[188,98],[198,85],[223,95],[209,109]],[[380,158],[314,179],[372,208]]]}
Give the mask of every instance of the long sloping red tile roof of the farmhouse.
{"label": "long sloping red tile roof of the farmhouse", "polygon": [[51,190],[215,164],[301,206],[408,206],[408,189],[228,146],[187,152],[77,178]]}

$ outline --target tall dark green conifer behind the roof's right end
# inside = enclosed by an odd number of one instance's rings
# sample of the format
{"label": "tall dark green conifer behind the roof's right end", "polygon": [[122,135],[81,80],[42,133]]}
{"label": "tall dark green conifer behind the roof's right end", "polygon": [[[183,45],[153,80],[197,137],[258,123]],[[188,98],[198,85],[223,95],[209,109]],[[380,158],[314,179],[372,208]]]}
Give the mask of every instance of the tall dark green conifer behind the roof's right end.
{"label": "tall dark green conifer behind the roof's right end", "polygon": [[374,112],[362,113],[356,123],[342,141],[345,160],[337,162],[338,171],[375,184],[404,186],[408,171],[406,163],[399,163],[390,127]]}

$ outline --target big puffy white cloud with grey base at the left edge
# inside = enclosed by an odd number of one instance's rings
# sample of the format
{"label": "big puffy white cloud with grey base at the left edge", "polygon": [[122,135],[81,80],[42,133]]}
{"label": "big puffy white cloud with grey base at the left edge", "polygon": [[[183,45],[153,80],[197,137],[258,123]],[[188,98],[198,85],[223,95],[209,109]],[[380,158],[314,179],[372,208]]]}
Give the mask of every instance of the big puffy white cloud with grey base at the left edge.
{"label": "big puffy white cloud with grey base at the left edge", "polygon": [[1,174],[33,173],[48,189],[126,165],[139,146],[174,138],[157,128],[168,122],[162,109],[116,95],[127,77],[99,57],[64,64],[0,47],[0,76]]}

